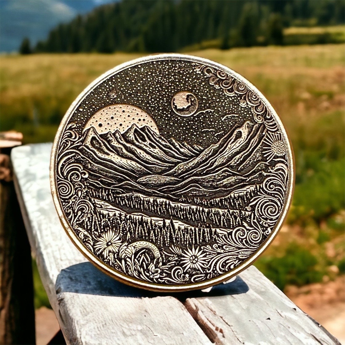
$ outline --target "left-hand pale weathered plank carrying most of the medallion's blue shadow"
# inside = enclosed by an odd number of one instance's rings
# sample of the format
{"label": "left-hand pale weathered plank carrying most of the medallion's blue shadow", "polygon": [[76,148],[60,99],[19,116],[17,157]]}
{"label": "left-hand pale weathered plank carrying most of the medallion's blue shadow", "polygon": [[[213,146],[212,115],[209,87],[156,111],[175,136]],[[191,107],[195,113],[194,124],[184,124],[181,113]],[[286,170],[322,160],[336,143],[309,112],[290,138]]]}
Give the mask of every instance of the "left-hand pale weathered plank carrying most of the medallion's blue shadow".
{"label": "left-hand pale weathered plank carrying most of the medallion's blue shadow", "polygon": [[79,253],[49,187],[51,144],[12,150],[18,199],[42,283],[67,344],[211,344],[179,300],[127,287]]}

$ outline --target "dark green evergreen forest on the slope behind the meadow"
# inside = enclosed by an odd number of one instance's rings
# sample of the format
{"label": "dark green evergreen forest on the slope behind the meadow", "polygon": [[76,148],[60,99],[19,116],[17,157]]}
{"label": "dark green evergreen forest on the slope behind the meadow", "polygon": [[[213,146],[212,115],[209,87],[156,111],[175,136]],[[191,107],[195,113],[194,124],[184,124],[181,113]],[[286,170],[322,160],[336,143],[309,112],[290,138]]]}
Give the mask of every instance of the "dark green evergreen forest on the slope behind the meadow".
{"label": "dark green evergreen forest on the slope behind the meadow", "polygon": [[174,52],[212,41],[223,49],[282,45],[285,27],[343,24],[344,17],[343,0],[122,0],[60,24],[34,48],[23,40],[20,51]]}

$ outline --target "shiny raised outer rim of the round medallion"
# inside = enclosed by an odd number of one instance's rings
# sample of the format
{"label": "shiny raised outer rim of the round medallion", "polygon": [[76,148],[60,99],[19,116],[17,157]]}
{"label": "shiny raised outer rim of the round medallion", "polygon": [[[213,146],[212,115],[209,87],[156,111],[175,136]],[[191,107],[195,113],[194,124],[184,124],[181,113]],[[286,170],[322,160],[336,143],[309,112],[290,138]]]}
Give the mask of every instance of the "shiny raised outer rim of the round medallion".
{"label": "shiny raised outer rim of the round medallion", "polygon": [[[140,63],[146,63],[150,61],[159,61],[159,60],[185,60],[190,62],[197,62],[197,63],[203,63],[205,65],[209,65],[211,67],[215,67],[219,70],[222,70],[226,73],[229,73],[231,76],[235,77],[237,80],[241,81],[246,85],[250,90],[257,93],[257,95],[260,97],[260,100],[265,104],[265,106],[268,108],[269,111],[272,112],[274,115],[275,120],[280,126],[280,129],[282,130],[282,134],[285,135],[288,151],[288,162],[290,163],[290,174],[288,179],[288,193],[286,197],[286,203],[284,210],[282,211],[282,214],[279,217],[279,220],[277,222],[277,225],[274,228],[274,231],[270,234],[269,238],[266,240],[265,244],[260,247],[260,249],[250,258],[244,260],[240,265],[238,265],[234,270],[231,270],[228,273],[221,274],[215,278],[206,280],[204,282],[199,283],[192,283],[192,284],[185,284],[185,285],[162,285],[162,284],[155,284],[155,283],[148,283],[144,282],[142,280],[136,279],[134,277],[130,277],[128,275],[125,275],[119,271],[117,271],[114,268],[109,267],[106,265],[101,259],[99,259],[97,256],[95,256],[93,253],[91,253],[85,245],[82,243],[80,238],[76,235],[76,233],[72,230],[68,220],[65,217],[65,214],[62,211],[60,199],[57,196],[57,185],[56,185],[56,158],[57,158],[57,145],[60,141],[61,134],[64,131],[66,125],[68,124],[68,120],[70,119],[71,114],[76,110],[79,103],[85,98],[88,93],[95,89],[101,82],[103,82],[105,79],[109,78],[111,75],[114,75],[115,73],[118,73],[124,69],[130,68],[135,65],[139,65]],[[57,134],[55,136],[52,151],[51,151],[51,157],[50,157],[50,187],[51,187],[51,194],[53,197],[54,206],[56,208],[56,211],[58,213],[60,222],[62,227],[65,229],[67,235],[73,242],[73,244],[79,249],[79,251],[97,268],[99,268],[103,273],[111,276],[112,278],[115,278],[119,280],[121,283],[125,283],[130,286],[139,287],[139,288],[145,288],[147,290],[156,291],[156,292],[182,292],[186,290],[195,290],[195,289],[205,289],[210,286],[214,286],[216,284],[226,282],[230,278],[236,276],[240,272],[242,272],[244,269],[246,269],[249,265],[253,264],[255,260],[267,249],[267,247],[270,245],[270,243],[274,240],[274,238],[277,236],[280,228],[282,227],[284,220],[287,216],[288,210],[291,206],[292,196],[294,192],[294,182],[295,182],[295,158],[292,150],[292,143],[289,138],[289,135],[283,125],[282,120],[279,118],[277,112],[273,108],[273,106],[268,102],[266,97],[260,92],[252,83],[250,83],[248,80],[246,80],[244,77],[236,73],[235,71],[231,70],[230,68],[223,66],[217,62],[199,58],[192,55],[183,55],[183,54],[157,54],[157,55],[149,55],[144,56],[138,59],[130,60],[128,62],[122,63],[107,72],[103,73],[100,77],[98,77],[96,80],[91,82],[76,98],[76,100],[71,104],[71,106],[68,108],[66,114],[63,116],[60,126],[58,128]]]}

